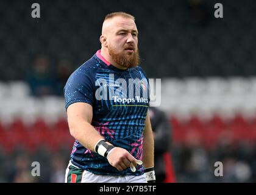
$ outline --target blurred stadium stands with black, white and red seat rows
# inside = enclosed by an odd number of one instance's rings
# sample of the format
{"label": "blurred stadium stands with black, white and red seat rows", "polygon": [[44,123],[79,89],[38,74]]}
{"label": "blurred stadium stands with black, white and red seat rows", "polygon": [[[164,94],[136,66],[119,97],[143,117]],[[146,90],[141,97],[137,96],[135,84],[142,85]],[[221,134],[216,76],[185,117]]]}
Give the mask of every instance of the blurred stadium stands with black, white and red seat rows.
{"label": "blurred stadium stands with black, white and red seat rows", "polygon": [[162,79],[176,181],[256,181],[255,1],[37,1],[41,18],[32,3],[0,2],[0,182],[62,182],[73,144],[63,85],[120,10],[136,18],[141,66]]}

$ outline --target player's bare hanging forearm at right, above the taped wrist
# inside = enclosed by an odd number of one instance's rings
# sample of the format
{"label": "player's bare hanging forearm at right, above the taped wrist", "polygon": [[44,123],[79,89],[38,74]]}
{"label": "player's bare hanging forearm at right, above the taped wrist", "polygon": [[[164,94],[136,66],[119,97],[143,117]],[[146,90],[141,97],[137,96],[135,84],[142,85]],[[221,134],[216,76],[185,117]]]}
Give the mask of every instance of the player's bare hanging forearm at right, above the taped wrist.
{"label": "player's bare hanging forearm at right, above the taped wrist", "polygon": [[149,113],[147,113],[143,138],[143,165],[144,168],[154,166],[154,137],[151,128]]}

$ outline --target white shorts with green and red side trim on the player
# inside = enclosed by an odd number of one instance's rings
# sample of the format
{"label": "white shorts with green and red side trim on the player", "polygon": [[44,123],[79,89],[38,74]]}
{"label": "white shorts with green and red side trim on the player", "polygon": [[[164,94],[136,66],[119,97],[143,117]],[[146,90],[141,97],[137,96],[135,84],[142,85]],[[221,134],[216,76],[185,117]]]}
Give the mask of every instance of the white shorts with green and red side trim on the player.
{"label": "white shorts with green and red side trim on the player", "polygon": [[65,183],[147,183],[141,176],[104,176],[80,169],[70,161],[66,168]]}

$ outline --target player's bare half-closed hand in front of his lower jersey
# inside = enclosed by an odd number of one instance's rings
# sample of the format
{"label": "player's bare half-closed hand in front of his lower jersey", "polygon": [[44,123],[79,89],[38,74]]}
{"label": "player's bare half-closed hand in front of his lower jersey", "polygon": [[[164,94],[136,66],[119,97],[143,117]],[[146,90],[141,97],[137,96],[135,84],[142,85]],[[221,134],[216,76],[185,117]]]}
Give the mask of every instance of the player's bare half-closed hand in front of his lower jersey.
{"label": "player's bare half-closed hand in front of his lower jersey", "polygon": [[118,171],[123,171],[130,166],[137,166],[136,158],[126,151],[126,149],[121,147],[113,148],[113,151],[108,155],[107,160],[110,165],[118,169]]}

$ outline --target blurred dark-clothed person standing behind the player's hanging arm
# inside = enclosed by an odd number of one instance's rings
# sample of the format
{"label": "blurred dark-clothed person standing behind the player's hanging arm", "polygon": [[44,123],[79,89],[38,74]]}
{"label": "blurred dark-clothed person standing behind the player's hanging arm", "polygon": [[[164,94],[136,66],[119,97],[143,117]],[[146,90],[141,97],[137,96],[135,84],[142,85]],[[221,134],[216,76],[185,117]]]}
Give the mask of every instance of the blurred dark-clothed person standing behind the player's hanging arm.
{"label": "blurred dark-clothed person standing behind the player's hanging arm", "polygon": [[165,113],[157,107],[149,108],[149,116],[151,118],[155,141],[154,169],[156,182],[165,182],[167,171],[165,166],[165,154],[171,151],[171,126]]}

